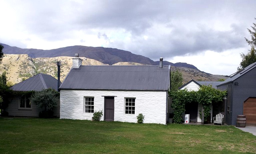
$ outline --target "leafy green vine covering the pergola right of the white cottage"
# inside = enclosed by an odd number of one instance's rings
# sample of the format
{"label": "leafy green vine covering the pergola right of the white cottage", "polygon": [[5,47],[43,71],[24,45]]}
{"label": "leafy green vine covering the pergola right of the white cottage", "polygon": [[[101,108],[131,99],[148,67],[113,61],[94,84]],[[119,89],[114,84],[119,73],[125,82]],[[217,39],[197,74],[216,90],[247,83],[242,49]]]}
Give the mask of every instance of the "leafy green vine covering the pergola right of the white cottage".
{"label": "leafy green vine covering the pergola right of the white cottage", "polygon": [[[210,116],[210,105],[222,101],[226,91],[217,90],[212,86],[202,85],[198,91],[188,91],[187,89],[169,91],[169,96],[172,98],[172,108],[174,109],[174,123],[182,123],[182,113],[185,112],[185,105],[192,102],[197,102],[203,105],[204,121]],[[200,112],[200,111],[199,111]],[[202,119],[202,111],[201,117]]]}

